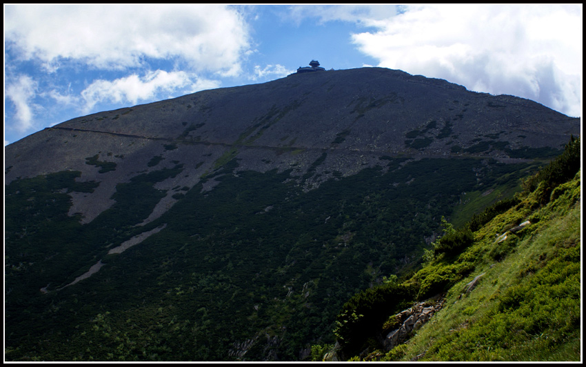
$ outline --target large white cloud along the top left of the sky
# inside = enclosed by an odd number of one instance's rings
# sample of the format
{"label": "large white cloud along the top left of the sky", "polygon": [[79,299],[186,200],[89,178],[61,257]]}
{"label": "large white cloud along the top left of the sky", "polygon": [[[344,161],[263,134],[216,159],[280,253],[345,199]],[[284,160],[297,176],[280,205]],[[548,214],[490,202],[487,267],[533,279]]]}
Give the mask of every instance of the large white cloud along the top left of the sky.
{"label": "large white cloud along the top left of the sky", "polygon": [[4,14],[6,41],[46,70],[70,61],[123,69],[152,58],[236,75],[249,48],[247,25],[228,6],[34,4]]}

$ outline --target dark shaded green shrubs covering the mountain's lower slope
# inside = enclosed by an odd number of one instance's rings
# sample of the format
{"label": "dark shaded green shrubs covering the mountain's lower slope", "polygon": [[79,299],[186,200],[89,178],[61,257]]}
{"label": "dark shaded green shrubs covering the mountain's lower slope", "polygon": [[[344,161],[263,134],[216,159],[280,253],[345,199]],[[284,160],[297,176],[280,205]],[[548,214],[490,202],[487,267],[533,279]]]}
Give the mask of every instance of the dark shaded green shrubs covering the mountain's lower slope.
{"label": "dark shaded green shrubs covering the mountain's lower slope", "polygon": [[[326,158],[324,152],[308,173]],[[392,310],[476,270],[469,257],[447,262],[476,245],[446,237],[424,268],[430,276],[413,276],[414,259],[427,248],[423,237],[439,230],[442,216],[454,215],[461,193],[498,188],[529,168],[384,157],[384,167],[337,175],[304,192],[289,171],[232,175],[236,159],[224,160],[206,178],[219,181],[213,190],[203,191],[205,179],[189,190],[177,186],[180,200],[145,226],[137,224],[166,195],[154,184],[182,166],[119,184],[115,204],[85,225],[68,215],[67,192],[97,184],[75,181],[79,173],[7,186],[6,359],[296,360],[300,350],[318,355],[333,345],[330,330],[338,324],[348,350],[374,346],[361,333],[392,327]],[[106,255],[165,224],[122,255]],[[97,274],[67,286],[99,260],[105,265]],[[336,319],[343,306],[345,316]]]}

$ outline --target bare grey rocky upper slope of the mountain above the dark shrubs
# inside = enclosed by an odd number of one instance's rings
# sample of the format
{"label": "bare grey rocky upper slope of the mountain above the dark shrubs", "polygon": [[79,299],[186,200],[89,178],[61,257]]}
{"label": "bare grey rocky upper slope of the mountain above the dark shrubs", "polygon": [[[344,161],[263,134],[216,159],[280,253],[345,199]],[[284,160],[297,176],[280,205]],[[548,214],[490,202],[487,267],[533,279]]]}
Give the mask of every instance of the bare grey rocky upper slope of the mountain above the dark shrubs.
{"label": "bare grey rocky upper slope of the mountain above the dark shrubs", "polygon": [[[326,154],[304,183],[312,188],[385,156],[532,159],[531,150],[547,154],[579,132],[579,119],[526,99],[400,70],[337,70],[65,121],[7,146],[5,180],[79,170],[81,181],[101,183],[92,195],[73,195],[72,212],[89,222],[114,203],[116,184],[161,166],[185,166],[186,175],[159,184],[170,190],[193,187],[234,157],[239,170],[291,169],[299,179]],[[97,169],[90,157],[115,169]],[[153,217],[174,202],[165,197]]]}

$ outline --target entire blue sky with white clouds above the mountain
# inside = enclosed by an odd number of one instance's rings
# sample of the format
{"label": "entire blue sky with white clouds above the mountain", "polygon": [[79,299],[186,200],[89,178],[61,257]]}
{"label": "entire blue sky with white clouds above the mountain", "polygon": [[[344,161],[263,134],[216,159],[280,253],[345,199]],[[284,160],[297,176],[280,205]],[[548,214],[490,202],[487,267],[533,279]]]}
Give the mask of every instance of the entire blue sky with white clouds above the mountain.
{"label": "entire blue sky with white clouds above the mountain", "polygon": [[582,115],[582,4],[5,4],[4,145],[94,112],[265,83],[312,59]]}

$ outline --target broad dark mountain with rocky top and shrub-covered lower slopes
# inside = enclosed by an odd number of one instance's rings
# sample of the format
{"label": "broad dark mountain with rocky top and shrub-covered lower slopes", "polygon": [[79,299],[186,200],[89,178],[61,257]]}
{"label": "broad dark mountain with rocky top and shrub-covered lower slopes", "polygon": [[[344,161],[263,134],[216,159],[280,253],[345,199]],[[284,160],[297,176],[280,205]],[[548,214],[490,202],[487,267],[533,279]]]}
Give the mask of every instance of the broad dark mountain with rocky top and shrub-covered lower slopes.
{"label": "broad dark mountain with rocky top and shrub-covered lower slopes", "polygon": [[9,360],[296,360],[580,120],[400,70],[294,74],[5,148]]}

